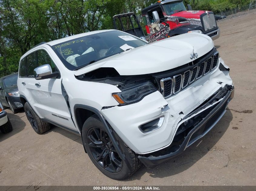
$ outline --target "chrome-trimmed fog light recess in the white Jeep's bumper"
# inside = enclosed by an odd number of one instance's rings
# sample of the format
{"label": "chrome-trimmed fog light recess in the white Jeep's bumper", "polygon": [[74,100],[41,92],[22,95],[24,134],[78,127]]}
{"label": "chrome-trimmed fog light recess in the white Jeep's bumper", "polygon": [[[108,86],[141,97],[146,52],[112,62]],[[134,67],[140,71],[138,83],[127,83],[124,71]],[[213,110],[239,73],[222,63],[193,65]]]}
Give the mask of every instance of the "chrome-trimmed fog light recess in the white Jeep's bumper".
{"label": "chrome-trimmed fog light recess in the white Jeep's bumper", "polygon": [[152,121],[149,121],[147,123],[140,125],[139,129],[143,133],[149,133],[149,132],[155,131],[163,125],[164,120],[165,120],[165,116],[158,117],[157,119],[153,119]]}

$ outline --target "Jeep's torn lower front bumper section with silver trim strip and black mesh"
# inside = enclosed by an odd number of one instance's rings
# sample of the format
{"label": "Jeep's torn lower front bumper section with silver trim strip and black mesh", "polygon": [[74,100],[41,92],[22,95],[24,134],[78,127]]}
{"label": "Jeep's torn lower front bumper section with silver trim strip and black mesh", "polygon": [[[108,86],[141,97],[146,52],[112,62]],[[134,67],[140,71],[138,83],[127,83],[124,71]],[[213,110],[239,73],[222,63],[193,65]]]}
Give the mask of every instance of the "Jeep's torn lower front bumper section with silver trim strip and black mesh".
{"label": "Jeep's torn lower front bumper section with silver trim strip and black mesh", "polygon": [[226,112],[226,107],[234,97],[234,86],[226,85],[200,107],[188,114],[178,124],[173,142],[168,147],[138,156],[147,168],[181,154],[186,148],[207,134]]}

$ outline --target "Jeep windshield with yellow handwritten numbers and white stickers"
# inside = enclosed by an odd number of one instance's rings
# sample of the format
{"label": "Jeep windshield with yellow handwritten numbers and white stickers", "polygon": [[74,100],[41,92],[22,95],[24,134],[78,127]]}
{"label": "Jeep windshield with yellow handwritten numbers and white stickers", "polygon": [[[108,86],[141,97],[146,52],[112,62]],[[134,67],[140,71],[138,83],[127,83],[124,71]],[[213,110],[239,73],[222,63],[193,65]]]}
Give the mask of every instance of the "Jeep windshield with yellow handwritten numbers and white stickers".
{"label": "Jeep windshield with yellow handwritten numbers and white stickers", "polygon": [[87,35],[52,46],[69,70],[77,70],[109,56],[147,44],[127,33],[113,30]]}

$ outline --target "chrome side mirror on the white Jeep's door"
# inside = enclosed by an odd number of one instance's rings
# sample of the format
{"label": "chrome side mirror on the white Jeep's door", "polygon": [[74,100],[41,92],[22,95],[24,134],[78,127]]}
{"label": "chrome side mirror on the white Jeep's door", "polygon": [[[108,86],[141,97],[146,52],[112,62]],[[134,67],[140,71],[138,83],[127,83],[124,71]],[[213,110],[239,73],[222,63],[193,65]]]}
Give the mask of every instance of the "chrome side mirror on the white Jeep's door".
{"label": "chrome side mirror on the white Jeep's door", "polygon": [[52,73],[52,68],[49,64],[38,66],[34,69],[34,75],[36,80],[43,80],[48,78],[57,78],[59,72]]}

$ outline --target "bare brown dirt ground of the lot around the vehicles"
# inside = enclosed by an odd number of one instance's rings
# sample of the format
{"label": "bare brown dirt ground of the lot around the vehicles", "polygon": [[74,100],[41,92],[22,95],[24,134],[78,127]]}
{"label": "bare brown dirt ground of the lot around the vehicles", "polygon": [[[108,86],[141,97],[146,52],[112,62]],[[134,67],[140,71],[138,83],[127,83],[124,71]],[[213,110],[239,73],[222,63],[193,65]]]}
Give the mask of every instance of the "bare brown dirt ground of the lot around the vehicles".
{"label": "bare brown dirt ground of the lot around the vehicles", "polygon": [[218,21],[214,41],[231,68],[235,97],[218,124],[183,154],[124,181],[103,175],[81,138],[58,127],[38,135],[25,113],[7,109],[13,131],[0,133],[0,185],[256,185],[256,12]]}

